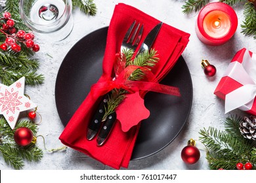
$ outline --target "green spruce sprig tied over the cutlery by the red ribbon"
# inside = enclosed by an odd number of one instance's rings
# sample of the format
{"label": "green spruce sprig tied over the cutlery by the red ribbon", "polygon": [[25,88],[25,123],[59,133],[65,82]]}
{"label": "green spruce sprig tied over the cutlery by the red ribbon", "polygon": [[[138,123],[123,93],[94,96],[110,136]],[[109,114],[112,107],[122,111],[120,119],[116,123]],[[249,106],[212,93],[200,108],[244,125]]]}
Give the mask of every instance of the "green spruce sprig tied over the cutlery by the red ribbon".
{"label": "green spruce sprig tied over the cutlery by the red ribbon", "polygon": [[[123,54],[125,55],[126,67],[129,65],[136,65],[143,68],[150,69],[156,65],[158,62],[158,57],[156,54],[156,50],[152,49],[149,51],[142,52],[136,58],[133,59],[133,50],[131,49],[124,49],[122,50]],[[144,78],[144,72],[140,69],[136,69],[131,73],[128,77],[128,80],[142,80]],[[127,93],[124,89],[114,89],[111,91],[110,95],[108,95],[107,107],[105,107],[105,114],[102,120],[106,120],[106,118],[112,114],[116,107],[125,99],[125,94]]]}

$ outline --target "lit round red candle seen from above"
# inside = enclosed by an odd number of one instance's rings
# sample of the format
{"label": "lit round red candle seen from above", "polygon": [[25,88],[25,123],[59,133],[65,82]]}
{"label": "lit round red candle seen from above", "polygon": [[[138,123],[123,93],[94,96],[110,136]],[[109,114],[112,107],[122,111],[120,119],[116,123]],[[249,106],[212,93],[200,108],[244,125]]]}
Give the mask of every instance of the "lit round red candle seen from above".
{"label": "lit round red candle seen from above", "polygon": [[209,3],[198,14],[196,35],[205,44],[219,46],[234,35],[237,27],[238,17],[232,7],[221,2]]}

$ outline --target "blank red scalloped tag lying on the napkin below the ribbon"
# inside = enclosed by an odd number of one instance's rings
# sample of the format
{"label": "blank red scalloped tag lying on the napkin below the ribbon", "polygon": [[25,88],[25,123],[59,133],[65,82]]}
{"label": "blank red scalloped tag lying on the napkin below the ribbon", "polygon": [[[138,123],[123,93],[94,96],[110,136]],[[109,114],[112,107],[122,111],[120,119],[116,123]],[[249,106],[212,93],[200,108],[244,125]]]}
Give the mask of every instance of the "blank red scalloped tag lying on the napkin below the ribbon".
{"label": "blank red scalloped tag lying on the napkin below the ribbon", "polygon": [[148,118],[150,111],[145,107],[139,92],[135,92],[126,95],[124,101],[116,108],[116,115],[122,131],[127,132],[141,120]]}

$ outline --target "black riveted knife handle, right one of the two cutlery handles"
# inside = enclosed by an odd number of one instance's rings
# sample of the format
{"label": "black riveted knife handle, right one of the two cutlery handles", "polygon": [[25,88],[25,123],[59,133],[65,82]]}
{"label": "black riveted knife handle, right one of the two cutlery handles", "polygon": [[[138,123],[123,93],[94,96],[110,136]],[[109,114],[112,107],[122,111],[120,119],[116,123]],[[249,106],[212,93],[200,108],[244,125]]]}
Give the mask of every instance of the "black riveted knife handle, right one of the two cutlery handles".
{"label": "black riveted knife handle, right one of the two cutlery handles", "polygon": [[98,146],[102,146],[102,144],[104,144],[106,139],[108,139],[108,136],[110,135],[110,132],[115,124],[115,121],[116,121],[116,111],[110,114],[106,119],[106,121],[104,121],[104,123],[102,124],[102,127],[100,129],[100,132],[98,133],[97,140],[96,140]]}

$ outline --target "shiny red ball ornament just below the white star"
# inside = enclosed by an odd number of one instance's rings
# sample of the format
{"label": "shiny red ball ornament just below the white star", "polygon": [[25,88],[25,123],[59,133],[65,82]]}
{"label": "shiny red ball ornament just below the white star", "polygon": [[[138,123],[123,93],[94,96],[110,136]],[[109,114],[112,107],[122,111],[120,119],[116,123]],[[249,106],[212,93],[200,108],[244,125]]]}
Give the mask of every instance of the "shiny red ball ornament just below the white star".
{"label": "shiny red ball ornament just below the white star", "polygon": [[14,141],[20,146],[28,146],[33,140],[33,133],[28,127],[20,127],[14,133]]}

